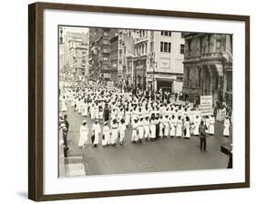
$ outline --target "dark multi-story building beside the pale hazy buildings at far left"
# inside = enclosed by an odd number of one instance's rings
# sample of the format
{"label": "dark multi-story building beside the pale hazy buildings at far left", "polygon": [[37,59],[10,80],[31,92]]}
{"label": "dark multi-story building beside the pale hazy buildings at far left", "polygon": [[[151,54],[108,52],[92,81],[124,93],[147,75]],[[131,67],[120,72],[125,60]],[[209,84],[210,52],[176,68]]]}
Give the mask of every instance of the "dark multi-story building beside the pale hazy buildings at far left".
{"label": "dark multi-story building beside the pale hazy buildings at far left", "polygon": [[89,28],[89,76],[92,80],[117,80],[118,56],[115,63],[115,55],[118,53],[118,47],[112,46],[117,41],[115,36],[118,36],[117,29]]}

